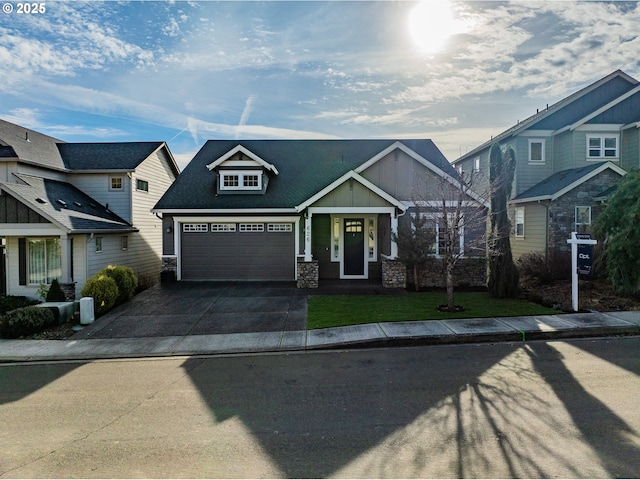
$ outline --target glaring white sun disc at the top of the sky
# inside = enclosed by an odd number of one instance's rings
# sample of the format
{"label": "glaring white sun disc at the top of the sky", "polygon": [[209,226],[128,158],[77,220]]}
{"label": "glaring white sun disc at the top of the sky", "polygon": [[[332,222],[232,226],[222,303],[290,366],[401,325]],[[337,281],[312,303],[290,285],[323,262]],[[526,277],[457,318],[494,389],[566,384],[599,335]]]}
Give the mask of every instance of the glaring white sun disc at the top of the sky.
{"label": "glaring white sun disc at the top of the sky", "polygon": [[458,30],[458,20],[448,0],[422,1],[409,14],[411,38],[426,53],[440,50]]}

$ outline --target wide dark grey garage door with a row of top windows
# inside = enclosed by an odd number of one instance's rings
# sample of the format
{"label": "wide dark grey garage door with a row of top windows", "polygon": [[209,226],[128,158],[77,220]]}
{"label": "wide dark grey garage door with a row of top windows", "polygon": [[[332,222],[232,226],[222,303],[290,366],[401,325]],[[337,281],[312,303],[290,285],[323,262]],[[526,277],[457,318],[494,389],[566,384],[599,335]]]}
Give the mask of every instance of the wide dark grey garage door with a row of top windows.
{"label": "wide dark grey garage door with a row of top windows", "polygon": [[184,280],[293,280],[292,223],[197,223],[181,228]]}

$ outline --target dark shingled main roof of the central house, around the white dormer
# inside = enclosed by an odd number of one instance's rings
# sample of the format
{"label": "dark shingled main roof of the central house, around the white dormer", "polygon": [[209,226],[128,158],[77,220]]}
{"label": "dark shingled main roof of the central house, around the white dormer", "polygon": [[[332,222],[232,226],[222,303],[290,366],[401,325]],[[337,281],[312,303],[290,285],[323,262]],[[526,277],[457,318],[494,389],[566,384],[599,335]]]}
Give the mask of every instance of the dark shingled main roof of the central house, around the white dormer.
{"label": "dark shingled main roof of the central house, around the white dormer", "polygon": [[[154,209],[291,209],[396,142],[457,175],[431,140],[210,140]],[[264,195],[216,194],[216,173],[207,165],[238,144],[277,168]]]}

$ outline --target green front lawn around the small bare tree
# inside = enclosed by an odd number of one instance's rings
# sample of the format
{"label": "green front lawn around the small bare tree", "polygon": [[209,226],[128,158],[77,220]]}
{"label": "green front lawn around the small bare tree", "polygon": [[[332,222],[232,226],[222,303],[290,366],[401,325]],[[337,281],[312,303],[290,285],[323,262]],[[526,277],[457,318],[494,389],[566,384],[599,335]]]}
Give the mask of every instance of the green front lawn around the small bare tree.
{"label": "green front lawn around the small bare tree", "polygon": [[307,328],[327,328],[375,322],[445,320],[448,318],[515,317],[558,313],[536,303],[497,300],[486,292],[456,292],[463,312],[444,313],[444,292],[409,292],[407,295],[315,295],[309,297]]}

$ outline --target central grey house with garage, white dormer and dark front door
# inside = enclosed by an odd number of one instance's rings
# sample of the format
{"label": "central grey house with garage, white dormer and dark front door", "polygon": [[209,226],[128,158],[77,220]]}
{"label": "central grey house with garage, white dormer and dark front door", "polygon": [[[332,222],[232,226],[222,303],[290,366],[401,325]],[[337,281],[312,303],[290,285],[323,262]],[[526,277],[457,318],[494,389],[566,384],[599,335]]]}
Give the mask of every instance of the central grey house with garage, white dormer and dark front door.
{"label": "central grey house with garage, white dormer and dark front door", "polygon": [[416,198],[437,201],[430,186],[456,178],[431,140],[211,140],[154,208],[165,269],[178,280],[402,284],[392,234]]}

